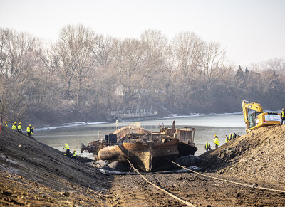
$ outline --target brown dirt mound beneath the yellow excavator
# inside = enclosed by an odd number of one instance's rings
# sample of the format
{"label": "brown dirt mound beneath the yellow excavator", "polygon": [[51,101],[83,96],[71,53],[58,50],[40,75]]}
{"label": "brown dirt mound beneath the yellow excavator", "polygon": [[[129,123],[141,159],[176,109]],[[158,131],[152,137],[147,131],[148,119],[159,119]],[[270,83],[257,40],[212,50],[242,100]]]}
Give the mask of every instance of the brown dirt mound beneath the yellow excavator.
{"label": "brown dirt mound beneath the yellow excavator", "polygon": [[205,171],[261,184],[285,185],[285,124],[261,127],[202,154]]}

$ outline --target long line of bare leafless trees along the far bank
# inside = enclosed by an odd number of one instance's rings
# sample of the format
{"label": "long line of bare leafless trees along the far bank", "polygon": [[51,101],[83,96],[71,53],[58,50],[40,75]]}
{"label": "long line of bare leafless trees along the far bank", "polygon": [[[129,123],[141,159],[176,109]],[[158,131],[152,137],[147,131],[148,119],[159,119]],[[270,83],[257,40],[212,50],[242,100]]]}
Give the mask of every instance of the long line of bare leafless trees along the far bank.
{"label": "long line of bare leafless trees along the far bank", "polygon": [[0,109],[10,122],[98,121],[140,102],[161,116],[241,112],[242,100],[276,110],[285,107],[284,75],[284,58],[236,67],[219,43],[193,32],[118,39],[68,25],[46,43],[0,29]]}

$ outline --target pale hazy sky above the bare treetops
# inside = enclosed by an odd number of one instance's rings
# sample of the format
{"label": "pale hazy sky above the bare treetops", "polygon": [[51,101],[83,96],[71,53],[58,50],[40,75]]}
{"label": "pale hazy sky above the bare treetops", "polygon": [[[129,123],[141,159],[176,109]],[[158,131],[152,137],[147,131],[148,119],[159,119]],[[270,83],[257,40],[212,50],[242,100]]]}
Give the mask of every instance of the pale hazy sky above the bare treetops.
{"label": "pale hazy sky above the bare treetops", "polygon": [[242,66],[285,57],[285,0],[0,0],[1,28],[55,41],[61,28],[78,23],[117,38],[192,31],[221,43]]}

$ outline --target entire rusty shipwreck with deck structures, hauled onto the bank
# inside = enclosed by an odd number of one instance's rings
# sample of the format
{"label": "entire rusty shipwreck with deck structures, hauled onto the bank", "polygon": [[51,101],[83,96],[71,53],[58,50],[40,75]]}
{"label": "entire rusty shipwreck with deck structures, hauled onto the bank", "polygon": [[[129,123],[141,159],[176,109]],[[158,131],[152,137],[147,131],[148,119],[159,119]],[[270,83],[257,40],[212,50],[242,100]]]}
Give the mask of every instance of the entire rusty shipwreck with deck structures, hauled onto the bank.
{"label": "entire rusty shipwreck with deck structures, hauled onto the bank", "polygon": [[[149,132],[140,127],[123,127],[114,132],[117,143],[94,141],[81,150],[93,152],[96,160],[119,161],[128,164],[128,160],[142,171],[162,169],[170,161],[197,151],[194,143],[195,128],[162,127],[160,132]],[[111,146],[110,146],[111,145]],[[127,160],[128,159],[128,160]]]}

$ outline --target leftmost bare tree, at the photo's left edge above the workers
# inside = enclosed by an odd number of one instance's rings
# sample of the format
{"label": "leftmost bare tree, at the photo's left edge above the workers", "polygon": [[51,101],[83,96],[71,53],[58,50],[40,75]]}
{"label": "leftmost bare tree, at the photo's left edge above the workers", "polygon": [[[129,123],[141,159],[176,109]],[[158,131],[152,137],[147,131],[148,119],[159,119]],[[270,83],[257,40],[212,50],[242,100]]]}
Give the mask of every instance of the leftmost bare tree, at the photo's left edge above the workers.
{"label": "leftmost bare tree, at the photo's left edge above the workers", "polygon": [[3,113],[11,120],[21,119],[30,102],[28,93],[41,56],[40,44],[27,33],[1,31],[1,85]]}

